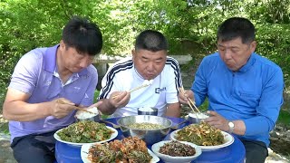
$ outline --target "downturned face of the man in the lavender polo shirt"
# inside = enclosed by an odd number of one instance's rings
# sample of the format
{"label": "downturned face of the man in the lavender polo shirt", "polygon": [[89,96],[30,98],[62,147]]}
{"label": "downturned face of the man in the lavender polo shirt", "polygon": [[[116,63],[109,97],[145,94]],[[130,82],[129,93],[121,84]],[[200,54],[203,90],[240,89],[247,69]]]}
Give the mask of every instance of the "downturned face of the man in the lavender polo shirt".
{"label": "downturned face of the man in the lavender polo shirt", "polygon": [[70,72],[81,72],[94,59],[94,56],[88,53],[78,53],[75,48],[67,47],[64,43],[61,43],[60,51],[62,53],[62,65]]}

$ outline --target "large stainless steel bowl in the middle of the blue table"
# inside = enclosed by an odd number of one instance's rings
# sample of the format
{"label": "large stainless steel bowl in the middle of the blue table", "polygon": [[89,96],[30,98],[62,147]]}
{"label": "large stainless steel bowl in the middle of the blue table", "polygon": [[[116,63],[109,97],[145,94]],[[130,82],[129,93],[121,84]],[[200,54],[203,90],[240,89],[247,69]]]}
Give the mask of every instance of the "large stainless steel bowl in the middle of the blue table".
{"label": "large stainless steel bowl in the middle of the blue table", "polygon": [[[131,129],[128,125],[132,123],[142,123],[150,122],[163,125],[162,129]],[[136,115],[136,116],[127,116],[122,117],[118,120],[118,124],[121,127],[121,131],[125,137],[139,137],[143,139],[147,145],[152,145],[156,142],[163,140],[166,135],[169,133],[172,121],[158,116],[151,115]]]}

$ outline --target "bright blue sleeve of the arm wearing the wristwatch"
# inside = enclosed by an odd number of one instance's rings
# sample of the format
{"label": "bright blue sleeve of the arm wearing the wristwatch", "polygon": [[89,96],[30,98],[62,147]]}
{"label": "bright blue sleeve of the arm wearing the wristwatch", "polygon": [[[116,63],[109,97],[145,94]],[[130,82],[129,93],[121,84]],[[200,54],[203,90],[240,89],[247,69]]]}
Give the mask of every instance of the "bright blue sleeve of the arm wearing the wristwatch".
{"label": "bright blue sleeve of the arm wearing the wristwatch", "polygon": [[278,70],[267,74],[264,89],[256,107],[256,117],[244,120],[246,125],[245,135],[257,135],[270,132],[275,127],[281,105],[283,104],[283,72]]}

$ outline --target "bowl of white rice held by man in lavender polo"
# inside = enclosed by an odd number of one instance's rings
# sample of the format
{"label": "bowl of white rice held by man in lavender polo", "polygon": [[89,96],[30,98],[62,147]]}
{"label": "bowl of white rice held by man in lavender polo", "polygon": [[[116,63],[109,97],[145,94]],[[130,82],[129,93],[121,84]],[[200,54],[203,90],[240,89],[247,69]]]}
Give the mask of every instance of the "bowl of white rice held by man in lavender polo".
{"label": "bowl of white rice held by man in lavender polo", "polygon": [[83,110],[78,110],[75,113],[75,118],[77,121],[84,121],[84,120],[92,120],[98,122],[100,120],[100,114],[96,107],[89,108],[89,111],[93,112],[87,112]]}

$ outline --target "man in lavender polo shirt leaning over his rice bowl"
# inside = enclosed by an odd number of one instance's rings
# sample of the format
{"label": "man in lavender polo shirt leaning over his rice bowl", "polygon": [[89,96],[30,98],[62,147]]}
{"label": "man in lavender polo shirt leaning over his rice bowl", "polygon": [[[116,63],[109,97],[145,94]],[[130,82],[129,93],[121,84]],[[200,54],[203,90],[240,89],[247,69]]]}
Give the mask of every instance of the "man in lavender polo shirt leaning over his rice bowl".
{"label": "man in lavender polo shirt leaning over his rice bowl", "polygon": [[55,160],[53,133],[74,122],[74,106],[92,105],[98,82],[92,61],[101,50],[99,27],[73,17],[59,44],[34,49],[17,63],[3,114],[18,162]]}

